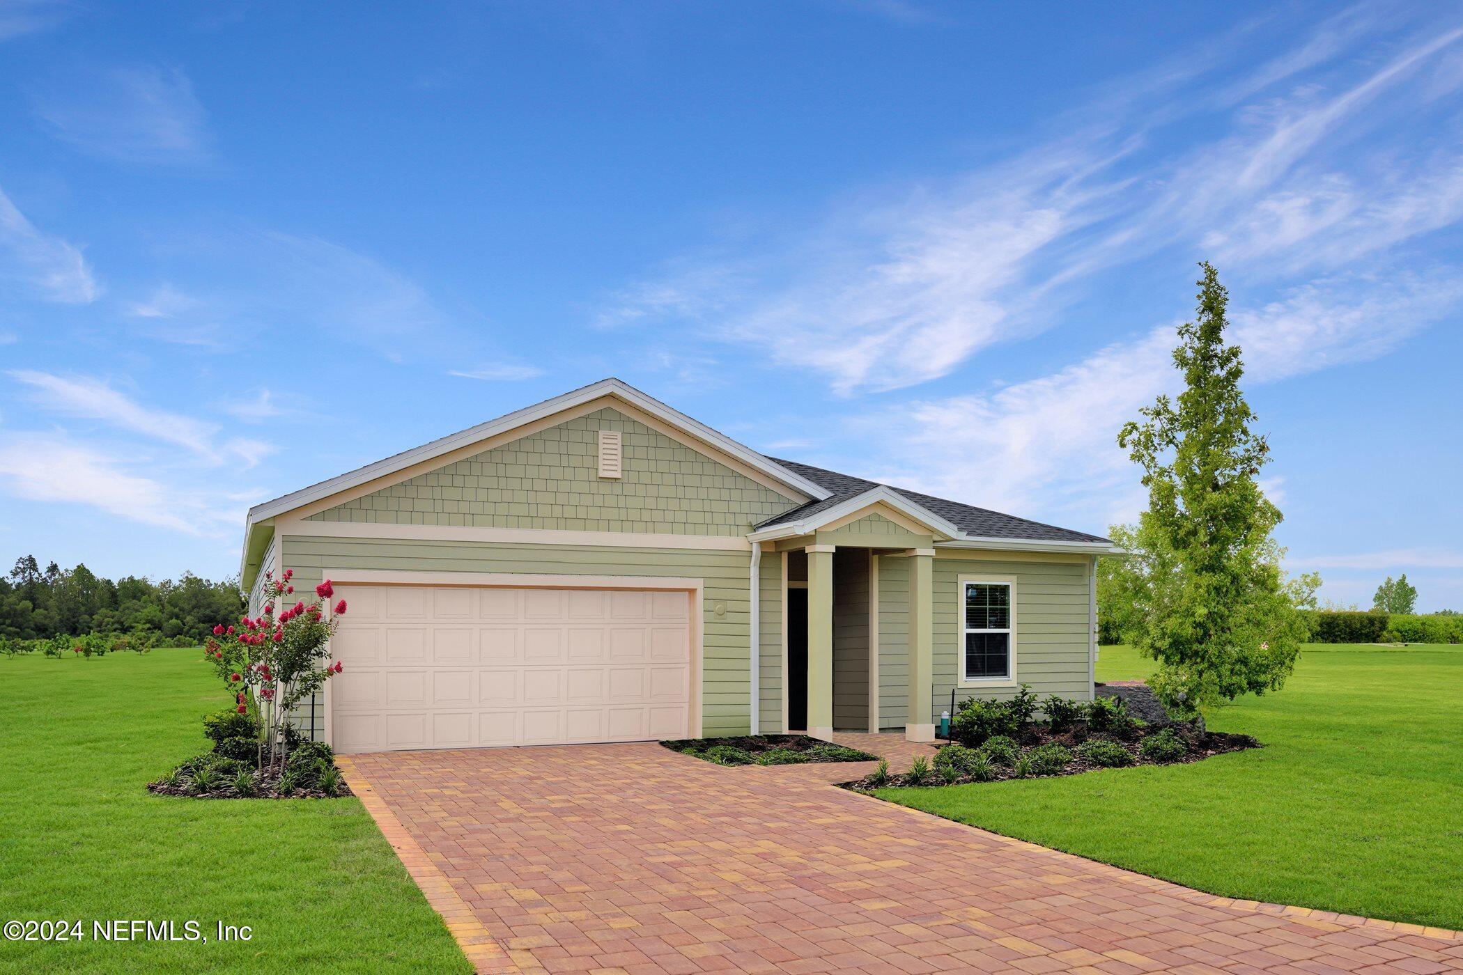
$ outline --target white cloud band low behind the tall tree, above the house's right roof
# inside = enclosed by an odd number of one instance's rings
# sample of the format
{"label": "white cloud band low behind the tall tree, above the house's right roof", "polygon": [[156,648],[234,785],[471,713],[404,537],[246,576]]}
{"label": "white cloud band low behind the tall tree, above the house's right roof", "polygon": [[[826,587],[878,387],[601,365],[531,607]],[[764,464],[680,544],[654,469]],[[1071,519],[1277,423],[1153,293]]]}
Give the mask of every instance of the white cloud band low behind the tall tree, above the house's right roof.
{"label": "white cloud band low behind the tall tree, above the house's right roof", "polygon": [[[1230,341],[1251,382],[1274,382],[1383,355],[1460,303],[1463,276],[1453,272],[1320,279],[1261,308],[1232,308]],[[865,417],[860,433],[878,437],[890,459],[870,477],[998,510],[1129,519],[1143,496],[1118,430],[1160,393],[1178,392],[1175,344],[1165,325],[992,393]]]}

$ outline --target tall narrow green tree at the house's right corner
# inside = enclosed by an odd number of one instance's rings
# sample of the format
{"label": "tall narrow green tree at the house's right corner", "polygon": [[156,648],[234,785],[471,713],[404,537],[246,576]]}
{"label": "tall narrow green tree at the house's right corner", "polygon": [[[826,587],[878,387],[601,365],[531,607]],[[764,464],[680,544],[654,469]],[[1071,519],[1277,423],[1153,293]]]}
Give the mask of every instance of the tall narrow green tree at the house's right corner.
{"label": "tall narrow green tree at the house's right corner", "polygon": [[1200,268],[1198,314],[1173,349],[1185,389],[1118,434],[1148,488],[1128,558],[1143,577],[1131,636],[1157,662],[1153,690],[1186,713],[1279,690],[1306,634],[1271,536],[1282,515],[1258,482],[1270,446],[1251,430],[1241,351],[1225,336],[1229,292]]}

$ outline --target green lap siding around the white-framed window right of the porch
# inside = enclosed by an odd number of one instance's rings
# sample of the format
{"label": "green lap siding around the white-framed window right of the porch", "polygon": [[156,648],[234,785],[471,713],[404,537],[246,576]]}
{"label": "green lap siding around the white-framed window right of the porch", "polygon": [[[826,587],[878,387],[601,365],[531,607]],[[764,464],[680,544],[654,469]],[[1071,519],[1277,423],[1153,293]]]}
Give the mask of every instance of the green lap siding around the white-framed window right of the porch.
{"label": "green lap siding around the white-framed window right of the porch", "polygon": [[[996,561],[935,558],[935,700],[933,719],[949,707],[958,677],[961,626],[960,576],[1014,576],[1017,580],[1017,680],[1031,690],[1087,700],[1091,697],[1088,653],[1088,580],[1084,561]],[[1015,688],[955,688],[955,699],[1011,697]]]}

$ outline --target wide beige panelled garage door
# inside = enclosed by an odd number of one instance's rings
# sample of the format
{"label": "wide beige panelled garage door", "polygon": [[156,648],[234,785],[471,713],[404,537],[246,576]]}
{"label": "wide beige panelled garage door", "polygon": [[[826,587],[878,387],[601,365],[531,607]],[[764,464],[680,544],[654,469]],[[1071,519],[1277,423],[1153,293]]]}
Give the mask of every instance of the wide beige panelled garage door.
{"label": "wide beige panelled garage door", "polygon": [[686,592],[338,586],[341,754],[685,738]]}

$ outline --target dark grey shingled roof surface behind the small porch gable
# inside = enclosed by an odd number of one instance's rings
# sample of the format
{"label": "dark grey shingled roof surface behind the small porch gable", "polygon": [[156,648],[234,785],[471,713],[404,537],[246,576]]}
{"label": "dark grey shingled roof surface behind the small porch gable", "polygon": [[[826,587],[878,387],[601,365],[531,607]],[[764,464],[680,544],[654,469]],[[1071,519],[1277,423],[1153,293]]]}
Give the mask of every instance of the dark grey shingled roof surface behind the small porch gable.
{"label": "dark grey shingled roof surface behind the small porch gable", "polygon": [[[789,468],[790,471],[797,471],[809,481],[827,488],[830,494],[825,498],[808,501],[800,507],[794,507],[767,519],[765,522],[756,525],[753,535],[762,534],[770,528],[786,528],[793,525],[800,529],[806,529],[808,526],[816,528],[819,522],[832,520],[832,517],[841,515],[840,509],[846,507],[849,501],[862,500],[863,496],[869,496],[872,503],[873,500],[878,500],[875,494],[882,490],[906,498],[917,509],[926,512],[935,519],[939,519],[941,522],[954,525],[958,529],[955,534],[957,539],[1056,542],[1069,545],[1091,545],[1093,548],[1112,545],[1110,539],[1102,538],[1100,535],[1088,535],[1069,528],[1043,525],[1042,522],[1033,522],[1014,515],[1002,515],[1001,512],[992,512],[985,507],[961,504],[960,501],[949,501],[942,497],[933,497],[930,494],[920,494],[919,491],[910,491],[907,488],[879,484],[878,481],[856,478],[851,474],[827,471],[808,463],[797,463],[796,460],[777,460],[777,463]],[[859,507],[862,507],[862,504],[859,504]],[[930,519],[926,517],[922,520],[929,522]]]}

